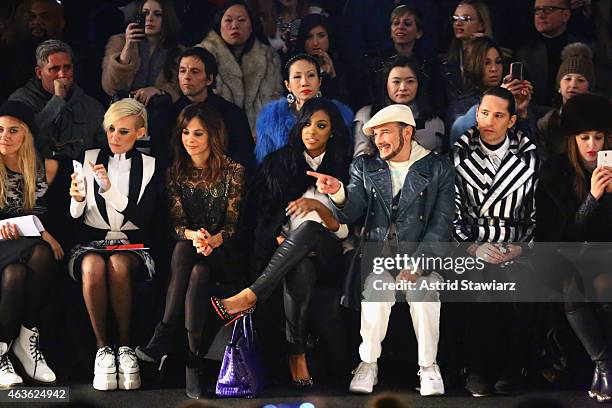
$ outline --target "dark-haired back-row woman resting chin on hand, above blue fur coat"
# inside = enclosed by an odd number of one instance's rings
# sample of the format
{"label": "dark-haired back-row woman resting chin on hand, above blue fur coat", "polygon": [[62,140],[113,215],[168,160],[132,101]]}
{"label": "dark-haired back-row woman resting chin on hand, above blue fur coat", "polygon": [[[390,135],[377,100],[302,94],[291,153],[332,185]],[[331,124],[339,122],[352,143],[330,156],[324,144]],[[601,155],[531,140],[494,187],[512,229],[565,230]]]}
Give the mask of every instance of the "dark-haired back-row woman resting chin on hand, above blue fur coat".
{"label": "dark-haired back-row woman resting chin on hand, above blue fur coat", "polygon": [[321,14],[309,14],[302,18],[295,43],[296,54],[308,54],[321,66],[321,93],[326,98],[348,102],[344,66],[334,51],[335,38],[329,20]]}

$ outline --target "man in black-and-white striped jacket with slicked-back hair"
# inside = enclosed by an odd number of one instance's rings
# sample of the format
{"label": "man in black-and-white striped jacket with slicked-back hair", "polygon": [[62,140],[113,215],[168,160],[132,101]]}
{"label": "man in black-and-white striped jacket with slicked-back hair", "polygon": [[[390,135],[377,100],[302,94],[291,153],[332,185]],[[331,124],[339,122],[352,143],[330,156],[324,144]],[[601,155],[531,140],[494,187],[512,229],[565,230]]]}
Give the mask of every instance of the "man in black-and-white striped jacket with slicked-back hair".
{"label": "man in black-and-white striped jacket with slicked-back hair", "polygon": [[[485,262],[485,279],[519,273],[512,264],[523,253],[518,243],[531,241],[535,229],[536,146],[513,129],[515,110],[510,91],[491,88],[478,106],[477,126],[453,150],[454,235],[459,242],[472,243],[467,252]],[[526,346],[525,307],[474,302],[466,311],[466,388],[475,397],[517,392]],[[503,326],[496,327],[501,321]]]}

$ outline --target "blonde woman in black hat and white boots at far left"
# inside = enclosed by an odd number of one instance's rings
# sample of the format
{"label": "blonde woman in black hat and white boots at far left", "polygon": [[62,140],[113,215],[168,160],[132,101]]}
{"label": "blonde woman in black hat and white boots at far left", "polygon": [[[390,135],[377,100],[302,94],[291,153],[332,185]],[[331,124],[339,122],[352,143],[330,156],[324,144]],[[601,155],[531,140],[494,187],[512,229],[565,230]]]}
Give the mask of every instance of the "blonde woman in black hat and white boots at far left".
{"label": "blonde woman in black hat and white boots at far left", "polygon": [[[36,215],[44,226],[45,194],[58,165],[36,157],[34,123],[34,113],[21,102],[0,106],[0,220]],[[23,384],[9,359],[11,343],[14,361],[28,380],[49,385],[56,377],[40,351],[36,325],[55,279],[54,258],[64,252],[47,231],[40,239],[27,239],[16,225],[0,224],[0,388]]]}

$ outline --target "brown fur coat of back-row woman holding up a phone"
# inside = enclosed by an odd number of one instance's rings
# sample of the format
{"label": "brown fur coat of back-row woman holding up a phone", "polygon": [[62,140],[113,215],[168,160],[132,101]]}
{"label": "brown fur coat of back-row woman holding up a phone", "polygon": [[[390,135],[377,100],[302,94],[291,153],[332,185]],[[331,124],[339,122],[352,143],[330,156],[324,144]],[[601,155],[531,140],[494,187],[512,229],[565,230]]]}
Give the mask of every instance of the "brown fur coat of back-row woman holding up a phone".
{"label": "brown fur coat of back-row woman holding up a phone", "polygon": [[[108,95],[113,96],[118,91],[129,90],[138,69],[140,57],[137,55],[129,64],[119,62],[119,56],[125,45],[125,34],[111,36],[106,43],[106,52],[102,60],[102,88]],[[177,75],[168,81],[162,69],[152,86],[165,91],[175,102],[180,95]]]}

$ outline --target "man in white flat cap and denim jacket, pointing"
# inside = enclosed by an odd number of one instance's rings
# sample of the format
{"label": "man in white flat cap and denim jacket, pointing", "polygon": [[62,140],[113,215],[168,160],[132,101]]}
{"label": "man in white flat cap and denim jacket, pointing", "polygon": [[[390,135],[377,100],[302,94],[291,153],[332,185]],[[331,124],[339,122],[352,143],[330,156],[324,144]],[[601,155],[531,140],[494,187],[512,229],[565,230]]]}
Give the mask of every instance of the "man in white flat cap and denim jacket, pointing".
{"label": "man in white flat cap and denim jacket, pointing", "polygon": [[[350,181],[346,186],[331,176],[308,172],[317,178],[318,190],[329,195],[342,223],[353,223],[368,212],[365,237],[368,241],[382,242],[384,256],[395,256],[400,246],[401,252],[408,255],[444,256],[447,247],[444,243],[452,239],[455,211],[455,172],[450,161],[412,139],[415,121],[412,111],[405,105],[381,109],[364,125],[363,131],[373,137],[379,156],[356,158],[351,164]],[[418,286],[422,281],[442,281],[437,272],[421,267],[413,266],[396,276],[393,274],[386,269],[373,270],[365,278],[360,302],[361,362],[353,371],[349,387],[352,392],[371,393],[378,381],[376,361],[395,303],[394,291],[379,291],[381,284],[404,280]],[[353,282],[360,285],[362,279],[357,277]],[[347,304],[350,295],[345,295],[343,300],[345,305],[351,306]],[[440,334],[439,294],[436,291],[406,291],[406,301],[418,341],[420,393],[442,395],[444,382],[436,363]]]}

